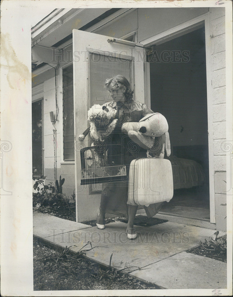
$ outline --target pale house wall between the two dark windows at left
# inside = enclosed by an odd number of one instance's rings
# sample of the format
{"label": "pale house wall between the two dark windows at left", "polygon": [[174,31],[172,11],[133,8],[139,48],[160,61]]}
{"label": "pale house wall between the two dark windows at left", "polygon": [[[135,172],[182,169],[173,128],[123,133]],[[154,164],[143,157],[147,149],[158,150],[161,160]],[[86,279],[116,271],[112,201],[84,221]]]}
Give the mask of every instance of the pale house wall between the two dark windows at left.
{"label": "pale house wall between the two dark windows at left", "polygon": [[[74,180],[74,161],[63,161],[63,113],[62,113],[62,69],[57,70],[57,102],[58,102],[58,121],[54,124],[55,128],[50,121],[50,111],[56,114],[55,104],[55,70],[49,69],[39,75],[34,76],[32,86],[33,93],[35,93],[38,86],[42,86],[43,92],[34,94],[32,101],[43,98],[43,162],[44,162],[44,176],[46,176],[46,184],[52,182],[55,185],[54,177],[54,133],[53,130],[57,130],[57,176],[59,180],[61,175],[65,178],[63,184],[63,193],[71,198],[75,190]],[[42,89],[42,88],[40,88]]]}

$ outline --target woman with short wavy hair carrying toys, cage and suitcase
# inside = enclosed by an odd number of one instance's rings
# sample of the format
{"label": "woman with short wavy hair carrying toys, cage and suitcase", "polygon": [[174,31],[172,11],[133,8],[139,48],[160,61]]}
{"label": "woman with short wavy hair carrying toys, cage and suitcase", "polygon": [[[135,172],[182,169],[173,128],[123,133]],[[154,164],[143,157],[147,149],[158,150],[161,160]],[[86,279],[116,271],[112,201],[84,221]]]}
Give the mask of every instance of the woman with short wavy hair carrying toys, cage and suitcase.
{"label": "woman with short wavy hair carrying toys, cage and suitcase", "polygon": [[[117,75],[113,78],[107,79],[105,83],[106,89],[110,92],[113,101],[105,103],[106,107],[110,106],[117,110],[117,125],[114,131],[105,140],[106,143],[120,144],[123,147],[124,164],[128,165],[129,170],[130,162],[136,159],[137,156],[146,158],[146,150],[140,148],[133,143],[130,138],[123,134],[121,131],[122,124],[125,122],[138,122],[146,114],[153,113],[152,110],[147,108],[145,104],[133,100],[133,90],[130,87],[128,80],[122,76]],[[137,155],[136,155],[137,154]],[[116,214],[119,216],[128,217],[127,224],[127,237],[134,239],[137,233],[133,228],[133,220],[135,218],[138,206],[130,205],[127,203],[128,196],[128,183],[124,181],[117,181],[103,184],[100,212],[96,221],[97,228],[104,229],[105,213]]]}

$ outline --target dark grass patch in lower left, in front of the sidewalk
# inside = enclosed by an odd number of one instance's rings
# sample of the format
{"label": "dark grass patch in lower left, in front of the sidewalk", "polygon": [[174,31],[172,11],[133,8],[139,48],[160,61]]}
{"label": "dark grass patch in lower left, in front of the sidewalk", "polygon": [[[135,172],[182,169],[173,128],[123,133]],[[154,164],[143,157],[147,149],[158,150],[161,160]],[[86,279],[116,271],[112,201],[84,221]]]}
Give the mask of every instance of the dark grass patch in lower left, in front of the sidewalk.
{"label": "dark grass patch in lower left, in front of the sidewalk", "polygon": [[[92,247],[90,246],[90,249]],[[72,255],[69,248],[54,250],[33,238],[34,290],[144,290],[158,289],[85,257],[87,246]]]}

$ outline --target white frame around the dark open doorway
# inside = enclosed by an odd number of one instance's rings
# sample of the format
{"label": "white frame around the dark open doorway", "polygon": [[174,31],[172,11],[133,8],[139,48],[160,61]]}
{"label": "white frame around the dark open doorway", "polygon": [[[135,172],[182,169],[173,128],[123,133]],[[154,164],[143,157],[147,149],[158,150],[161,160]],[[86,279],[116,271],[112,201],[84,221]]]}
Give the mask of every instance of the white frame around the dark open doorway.
{"label": "white frame around the dark open doorway", "polygon": [[[213,160],[213,128],[212,128],[212,86],[211,86],[211,54],[210,54],[210,28],[209,28],[210,18],[209,12],[186,21],[178,26],[175,26],[169,30],[162,33],[156,34],[141,43],[144,47],[149,47],[151,45],[162,44],[176,37],[182,36],[189,32],[205,26],[205,55],[206,55],[206,84],[207,84],[207,116],[208,116],[208,149],[209,149],[209,189],[210,189],[210,223],[215,223],[215,191],[214,191],[214,160]],[[146,67],[147,79],[150,81],[150,75],[148,71],[148,65]],[[145,85],[145,89],[149,85]],[[147,105],[150,107],[150,98],[147,97]]]}

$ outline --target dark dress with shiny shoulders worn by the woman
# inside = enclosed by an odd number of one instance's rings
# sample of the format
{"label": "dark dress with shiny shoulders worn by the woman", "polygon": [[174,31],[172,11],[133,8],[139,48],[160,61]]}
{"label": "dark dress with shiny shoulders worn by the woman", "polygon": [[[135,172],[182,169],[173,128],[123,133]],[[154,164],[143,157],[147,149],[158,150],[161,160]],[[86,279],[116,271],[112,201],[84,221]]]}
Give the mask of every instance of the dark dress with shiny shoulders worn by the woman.
{"label": "dark dress with shiny shoulders worn by the woman", "polygon": [[[115,108],[117,110],[118,119],[115,129],[110,135],[108,135],[108,138],[106,138],[104,141],[106,142],[106,144],[111,143],[122,145],[122,153],[124,157],[123,160],[128,171],[130,162],[138,157],[146,158],[147,151],[133,142],[128,137],[128,135],[122,133],[122,124],[126,122],[138,122],[147,114],[153,113],[153,111],[149,109],[145,104],[134,100],[130,100],[124,103],[112,101],[105,103],[104,105],[106,107],[110,106],[112,108]],[[109,214],[115,214],[118,216],[128,217],[127,196],[128,182],[117,181],[103,184],[100,201],[100,211]]]}

